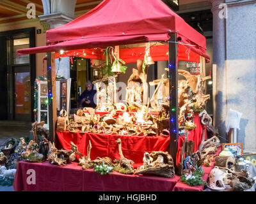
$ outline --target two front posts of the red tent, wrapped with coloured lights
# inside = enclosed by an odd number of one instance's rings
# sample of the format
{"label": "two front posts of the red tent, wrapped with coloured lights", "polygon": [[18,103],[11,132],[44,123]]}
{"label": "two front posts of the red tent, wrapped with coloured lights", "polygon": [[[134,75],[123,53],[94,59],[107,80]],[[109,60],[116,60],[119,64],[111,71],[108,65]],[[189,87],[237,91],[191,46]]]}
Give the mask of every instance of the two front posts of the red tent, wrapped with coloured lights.
{"label": "two front posts of the red tent, wrapped with coloured lights", "polygon": [[[173,163],[176,164],[176,154],[179,139],[178,124],[178,46],[177,33],[169,33],[169,80],[170,80],[170,154]],[[56,106],[56,80],[55,76],[55,54],[47,53],[47,85],[48,85],[48,107],[49,107],[49,140],[56,143],[56,122],[57,122],[57,106]],[[176,166],[175,166],[176,167]]]}

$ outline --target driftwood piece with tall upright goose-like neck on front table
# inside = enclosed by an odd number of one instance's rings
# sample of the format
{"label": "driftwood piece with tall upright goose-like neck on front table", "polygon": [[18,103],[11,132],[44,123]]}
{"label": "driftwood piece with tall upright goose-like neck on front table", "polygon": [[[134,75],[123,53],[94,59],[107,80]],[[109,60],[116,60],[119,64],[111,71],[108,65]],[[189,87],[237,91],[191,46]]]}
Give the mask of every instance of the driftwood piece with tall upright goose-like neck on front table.
{"label": "driftwood piece with tall upright goose-like neck on front table", "polygon": [[122,141],[120,138],[116,140],[118,143],[118,151],[120,155],[120,159],[115,159],[115,171],[118,171],[120,173],[130,174],[133,173],[134,169],[132,164],[134,164],[134,161],[127,159],[124,157],[124,154],[122,152]]}

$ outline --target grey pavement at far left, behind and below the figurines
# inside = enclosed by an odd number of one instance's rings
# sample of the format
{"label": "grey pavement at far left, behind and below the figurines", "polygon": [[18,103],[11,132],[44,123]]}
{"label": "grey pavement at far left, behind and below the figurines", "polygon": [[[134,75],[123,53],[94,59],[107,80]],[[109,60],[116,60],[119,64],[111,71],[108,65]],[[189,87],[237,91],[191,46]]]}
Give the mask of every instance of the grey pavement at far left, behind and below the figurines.
{"label": "grey pavement at far left, behind and below the figurines", "polygon": [[[0,145],[8,138],[19,139],[29,136],[31,122],[0,120]],[[0,186],[0,191],[13,191],[13,186]]]}

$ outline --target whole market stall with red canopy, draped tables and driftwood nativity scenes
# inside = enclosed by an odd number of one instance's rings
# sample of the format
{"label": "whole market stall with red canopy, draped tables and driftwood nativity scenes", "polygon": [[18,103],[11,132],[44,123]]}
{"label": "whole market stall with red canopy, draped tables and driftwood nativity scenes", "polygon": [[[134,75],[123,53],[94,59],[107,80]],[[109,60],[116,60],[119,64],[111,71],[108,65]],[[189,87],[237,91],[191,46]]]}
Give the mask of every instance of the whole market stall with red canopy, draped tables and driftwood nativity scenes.
{"label": "whole market stall with red canopy, draped tables and driftwood nativity scenes", "polygon": [[[160,0],[148,0],[147,4],[105,0],[67,25],[47,31],[47,44],[18,50],[18,54],[47,52],[50,122],[49,135],[43,134],[40,150],[33,140],[28,146],[19,146],[20,152],[25,150],[20,154],[25,161],[48,159],[49,163],[20,162],[16,190],[40,189],[22,181],[32,166],[46,172],[36,179],[51,178],[49,186],[58,181],[58,190],[77,186],[79,190],[136,191],[134,186],[141,185],[140,190],[178,191],[186,190],[187,184],[203,190],[214,157],[220,152],[220,140],[216,136],[207,140],[206,133],[207,127],[212,128],[212,119],[204,110],[209,99],[204,88],[209,79],[204,70],[205,59],[209,60],[204,36]],[[54,62],[56,57],[74,55],[99,60],[92,68],[104,69],[105,74],[93,82],[96,110],[82,108],[70,120],[66,110],[61,110],[60,116],[56,113]],[[127,81],[125,103],[120,103],[116,82],[127,69],[124,60],[137,62],[137,68]],[[156,61],[168,61],[164,69],[168,77],[162,75],[150,82],[156,89],[148,98],[147,71]],[[195,62],[196,74],[179,69],[178,61]],[[202,71],[198,71],[199,64]],[[42,130],[35,124],[36,140],[38,127]],[[100,177],[92,168],[101,175],[114,172]],[[59,184],[66,174],[74,179]],[[74,182],[81,177],[84,180],[80,183]],[[92,178],[100,180],[102,186],[92,186]],[[120,188],[124,183],[127,186]]]}

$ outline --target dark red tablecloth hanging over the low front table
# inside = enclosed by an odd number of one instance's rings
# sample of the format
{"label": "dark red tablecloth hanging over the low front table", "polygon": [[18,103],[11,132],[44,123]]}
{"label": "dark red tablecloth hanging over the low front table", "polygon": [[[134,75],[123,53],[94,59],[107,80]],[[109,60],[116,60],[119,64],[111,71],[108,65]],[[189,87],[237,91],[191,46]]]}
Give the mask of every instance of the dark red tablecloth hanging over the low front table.
{"label": "dark red tablecloth hanging over the low front table", "polygon": [[[35,170],[35,184],[28,184]],[[168,179],[154,176],[124,175],[113,172],[100,175],[92,169],[82,170],[77,163],[56,166],[48,161],[44,163],[26,163],[20,161],[15,180],[14,191],[172,191],[179,177]]]}

